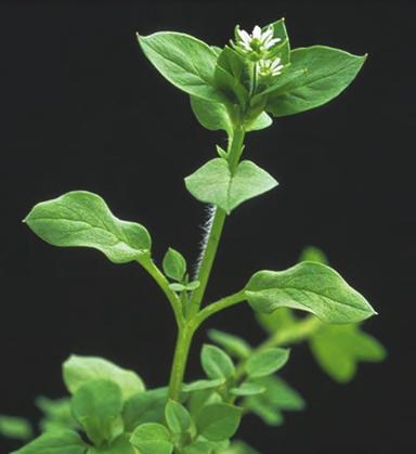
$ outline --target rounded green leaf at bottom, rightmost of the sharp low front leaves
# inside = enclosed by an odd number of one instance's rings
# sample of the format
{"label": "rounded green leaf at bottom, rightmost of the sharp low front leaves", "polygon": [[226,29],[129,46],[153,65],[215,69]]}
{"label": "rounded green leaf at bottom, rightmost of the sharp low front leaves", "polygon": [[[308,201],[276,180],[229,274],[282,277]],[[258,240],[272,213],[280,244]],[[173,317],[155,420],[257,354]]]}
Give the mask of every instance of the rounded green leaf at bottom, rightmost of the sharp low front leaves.
{"label": "rounded green leaf at bottom, rightmost of the sharp low front leaves", "polygon": [[203,406],[196,418],[199,434],[209,441],[222,441],[234,436],[242,418],[242,408],[225,403]]}

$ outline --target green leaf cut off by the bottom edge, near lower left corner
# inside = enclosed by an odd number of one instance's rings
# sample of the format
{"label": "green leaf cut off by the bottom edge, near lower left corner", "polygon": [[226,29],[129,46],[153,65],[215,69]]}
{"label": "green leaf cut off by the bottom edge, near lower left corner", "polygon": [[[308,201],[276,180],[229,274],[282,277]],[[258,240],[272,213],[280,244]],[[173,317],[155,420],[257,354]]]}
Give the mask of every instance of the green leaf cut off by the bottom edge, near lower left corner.
{"label": "green leaf cut off by the bottom edge, near lower left corner", "polygon": [[43,433],[11,454],[84,454],[86,443],[73,430]]}

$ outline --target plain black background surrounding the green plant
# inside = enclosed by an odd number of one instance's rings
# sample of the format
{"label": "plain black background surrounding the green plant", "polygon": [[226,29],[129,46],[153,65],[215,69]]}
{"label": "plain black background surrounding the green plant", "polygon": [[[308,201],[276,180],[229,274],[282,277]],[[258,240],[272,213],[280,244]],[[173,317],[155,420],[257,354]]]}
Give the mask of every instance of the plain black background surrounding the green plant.
{"label": "plain black background surrounding the green plant", "polygon": [[[60,397],[72,352],[99,354],[165,385],[173,321],[134,264],[87,249],[53,248],[21,223],[31,206],[67,191],[101,194],[121,219],[146,225],[160,260],[168,246],[197,257],[204,208],[183,177],[214,157],[187,96],[141,54],[134,31],[174,29],[224,44],[285,16],[294,47],[324,43],[369,53],[337,100],[282,118],[247,139],[246,156],[281,185],[227,220],[209,299],[259,269],[294,264],[307,244],[379,311],[367,329],[387,346],[348,386],[292,351],[284,376],[309,407],[282,428],[248,417],[242,437],[264,454],[379,454],[414,445],[416,9],[404,2],[10,2],[0,8],[0,412],[36,420],[38,393]],[[210,326],[259,342],[245,306]],[[200,375],[197,336],[188,377]],[[1,452],[15,445],[1,441]]]}

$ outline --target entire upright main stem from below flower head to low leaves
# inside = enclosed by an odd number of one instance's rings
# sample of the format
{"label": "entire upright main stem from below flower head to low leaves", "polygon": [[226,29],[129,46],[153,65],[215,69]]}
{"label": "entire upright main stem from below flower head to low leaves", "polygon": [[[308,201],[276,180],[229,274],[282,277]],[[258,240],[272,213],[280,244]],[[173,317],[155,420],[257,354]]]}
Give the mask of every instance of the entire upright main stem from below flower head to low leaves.
{"label": "entire upright main stem from below flower head to low leaves", "polygon": [[[244,134],[245,131],[243,127],[237,126],[234,128],[233,135],[230,138],[227,159],[232,173],[235,171],[242,155]],[[181,393],[181,387],[185,374],[192,338],[194,336],[195,329],[198,326],[196,315],[199,312],[200,303],[204,299],[205,289],[208,284],[213,260],[217,255],[218,244],[220,242],[222,229],[224,226],[225,216],[226,212],[223,209],[217,207],[211,229],[208,234],[209,236],[207,245],[200,262],[199,272],[196,277],[199,281],[199,287],[192,294],[187,321],[178,327],[177,346],[174,349],[168,391],[169,399],[176,401],[179,400]]]}

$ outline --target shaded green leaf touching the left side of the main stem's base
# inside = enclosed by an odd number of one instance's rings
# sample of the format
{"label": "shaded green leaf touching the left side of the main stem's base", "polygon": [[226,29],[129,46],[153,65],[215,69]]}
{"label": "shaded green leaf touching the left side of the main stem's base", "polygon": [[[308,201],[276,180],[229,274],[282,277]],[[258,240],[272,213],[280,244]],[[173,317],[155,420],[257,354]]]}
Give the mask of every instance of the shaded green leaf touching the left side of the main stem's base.
{"label": "shaded green leaf touching the left side of the main stem's base", "polygon": [[152,389],[132,395],[126,402],[122,412],[126,430],[131,431],[144,423],[161,423],[167,397],[167,388]]}

